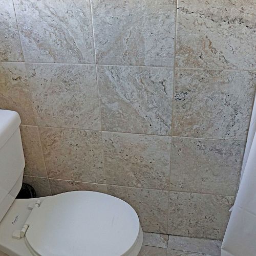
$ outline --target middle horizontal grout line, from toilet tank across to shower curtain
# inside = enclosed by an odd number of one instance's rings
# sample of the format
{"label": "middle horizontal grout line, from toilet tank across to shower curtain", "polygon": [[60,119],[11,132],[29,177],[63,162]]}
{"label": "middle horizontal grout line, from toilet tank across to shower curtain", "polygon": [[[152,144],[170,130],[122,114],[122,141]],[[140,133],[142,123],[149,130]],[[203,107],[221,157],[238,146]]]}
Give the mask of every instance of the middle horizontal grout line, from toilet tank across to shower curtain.
{"label": "middle horizontal grout line, from toilet tank across to shower curtain", "polygon": [[44,126],[44,125],[27,125],[21,124],[22,126],[38,126],[42,128],[50,129],[67,129],[67,130],[78,130],[78,131],[89,131],[89,132],[104,132],[104,133],[118,133],[118,134],[134,134],[134,135],[145,135],[145,136],[159,136],[168,138],[183,138],[183,139],[200,139],[200,140],[217,140],[217,141],[234,141],[234,142],[246,142],[245,140],[231,140],[231,139],[214,139],[214,138],[204,138],[204,137],[189,137],[189,136],[170,136],[170,135],[159,135],[159,134],[145,134],[145,133],[129,133],[129,132],[115,132],[115,131],[100,131],[91,129],[80,129],[80,128],[69,128],[69,127],[55,127],[55,126]]}

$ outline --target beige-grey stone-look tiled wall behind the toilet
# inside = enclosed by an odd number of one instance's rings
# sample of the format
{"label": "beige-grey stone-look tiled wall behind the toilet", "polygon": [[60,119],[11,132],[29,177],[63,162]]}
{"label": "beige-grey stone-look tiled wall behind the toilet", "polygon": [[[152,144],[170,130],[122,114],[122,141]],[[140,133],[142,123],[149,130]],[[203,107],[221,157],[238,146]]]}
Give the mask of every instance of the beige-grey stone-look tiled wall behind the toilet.
{"label": "beige-grey stone-look tiled wall behind the toilet", "polygon": [[2,0],[0,109],[38,196],[122,198],[147,232],[223,238],[255,91],[253,0]]}

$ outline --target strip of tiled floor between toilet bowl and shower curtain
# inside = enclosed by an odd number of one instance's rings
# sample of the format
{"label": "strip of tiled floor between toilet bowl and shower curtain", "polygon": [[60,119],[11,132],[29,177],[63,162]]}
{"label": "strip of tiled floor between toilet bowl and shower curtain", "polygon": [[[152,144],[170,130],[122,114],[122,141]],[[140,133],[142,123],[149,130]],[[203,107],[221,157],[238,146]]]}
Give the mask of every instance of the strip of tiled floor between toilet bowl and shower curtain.
{"label": "strip of tiled floor between toilet bowl and shower curtain", "polygon": [[143,234],[143,245],[138,256],[210,256],[221,255],[219,240]]}

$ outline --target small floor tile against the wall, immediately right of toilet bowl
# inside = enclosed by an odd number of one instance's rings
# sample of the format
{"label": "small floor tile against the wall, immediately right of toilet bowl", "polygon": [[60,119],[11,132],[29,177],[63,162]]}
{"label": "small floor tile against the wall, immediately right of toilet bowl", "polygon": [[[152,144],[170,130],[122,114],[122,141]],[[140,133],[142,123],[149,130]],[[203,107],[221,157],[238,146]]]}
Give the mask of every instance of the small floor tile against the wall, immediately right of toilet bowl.
{"label": "small floor tile against the wall, immediately right of toilet bowl", "polygon": [[167,248],[168,235],[143,232],[143,245]]}

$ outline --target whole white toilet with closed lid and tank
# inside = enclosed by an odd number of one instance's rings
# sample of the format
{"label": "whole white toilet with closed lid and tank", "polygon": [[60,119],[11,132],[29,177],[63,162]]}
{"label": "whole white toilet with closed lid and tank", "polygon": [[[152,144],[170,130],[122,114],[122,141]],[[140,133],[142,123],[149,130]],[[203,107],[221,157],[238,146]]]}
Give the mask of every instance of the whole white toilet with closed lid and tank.
{"label": "whole white toilet with closed lid and tank", "polygon": [[94,191],[15,199],[25,167],[19,125],[18,113],[0,110],[0,252],[138,255],[143,240],[139,218],[121,199]]}

